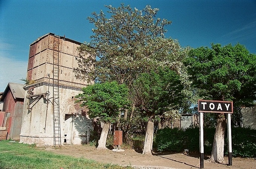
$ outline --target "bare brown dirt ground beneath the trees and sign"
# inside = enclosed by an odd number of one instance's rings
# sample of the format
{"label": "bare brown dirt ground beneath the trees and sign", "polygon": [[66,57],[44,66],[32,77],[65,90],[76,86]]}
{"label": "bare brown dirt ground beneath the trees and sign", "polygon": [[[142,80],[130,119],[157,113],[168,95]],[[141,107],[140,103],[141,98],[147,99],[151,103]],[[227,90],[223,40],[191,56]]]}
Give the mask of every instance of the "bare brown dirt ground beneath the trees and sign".
{"label": "bare brown dirt ground beneath the trees and sign", "polygon": [[[155,153],[153,155],[142,155],[131,149],[125,149],[123,152],[113,152],[110,149],[96,149],[94,146],[84,145],[64,145],[61,149],[52,147],[45,148],[56,154],[72,155],[74,157],[84,157],[102,163],[140,166],[140,168],[150,169],[198,169],[200,168],[200,159],[197,155],[183,155],[170,153]],[[207,158],[207,157],[206,157]],[[232,166],[226,164],[211,163],[204,160],[204,169],[256,169],[256,160],[248,158],[232,158]],[[142,167],[144,166],[144,167]],[[155,166],[155,167],[145,167]]]}

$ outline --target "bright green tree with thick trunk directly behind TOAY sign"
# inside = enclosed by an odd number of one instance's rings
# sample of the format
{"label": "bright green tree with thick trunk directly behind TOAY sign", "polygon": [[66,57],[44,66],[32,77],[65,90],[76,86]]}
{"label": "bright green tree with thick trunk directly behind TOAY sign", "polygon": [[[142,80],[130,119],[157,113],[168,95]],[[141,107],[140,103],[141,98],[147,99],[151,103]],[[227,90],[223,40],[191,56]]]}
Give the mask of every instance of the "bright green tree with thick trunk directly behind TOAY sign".
{"label": "bright green tree with thick trunk directly behind TOAY sign", "polygon": [[[254,106],[256,99],[256,55],[240,44],[212,44],[192,49],[184,61],[192,86],[202,99],[233,101],[234,107]],[[238,111],[237,111],[238,112]],[[210,160],[224,160],[226,117],[218,113]]]}

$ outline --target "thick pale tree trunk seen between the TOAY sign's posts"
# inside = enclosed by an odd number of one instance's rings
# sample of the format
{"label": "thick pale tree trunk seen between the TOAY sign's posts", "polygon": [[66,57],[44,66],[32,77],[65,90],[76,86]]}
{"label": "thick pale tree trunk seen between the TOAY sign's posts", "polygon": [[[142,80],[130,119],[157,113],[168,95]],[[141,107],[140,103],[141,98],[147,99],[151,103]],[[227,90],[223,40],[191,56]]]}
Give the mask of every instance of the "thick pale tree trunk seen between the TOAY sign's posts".
{"label": "thick pale tree trunk seen between the TOAY sign's posts", "polygon": [[226,129],[226,119],[224,114],[219,114],[217,119],[217,126],[215,130],[213,145],[212,145],[212,155],[210,161],[223,163],[224,162],[224,136]]}

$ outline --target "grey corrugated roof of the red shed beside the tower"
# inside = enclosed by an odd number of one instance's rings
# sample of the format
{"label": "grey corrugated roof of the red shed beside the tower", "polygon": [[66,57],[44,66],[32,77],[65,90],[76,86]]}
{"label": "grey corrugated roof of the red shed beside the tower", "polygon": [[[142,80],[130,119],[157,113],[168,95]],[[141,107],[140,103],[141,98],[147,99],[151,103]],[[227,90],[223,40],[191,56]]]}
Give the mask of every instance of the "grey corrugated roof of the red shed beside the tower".
{"label": "grey corrugated roof of the red shed beside the tower", "polygon": [[23,89],[25,85],[24,84],[18,84],[18,83],[8,83],[7,87],[5,88],[5,91],[3,92],[2,98],[0,101],[3,101],[5,99],[5,96],[10,90],[12,92],[12,95],[14,99],[16,98],[24,98],[25,90]]}

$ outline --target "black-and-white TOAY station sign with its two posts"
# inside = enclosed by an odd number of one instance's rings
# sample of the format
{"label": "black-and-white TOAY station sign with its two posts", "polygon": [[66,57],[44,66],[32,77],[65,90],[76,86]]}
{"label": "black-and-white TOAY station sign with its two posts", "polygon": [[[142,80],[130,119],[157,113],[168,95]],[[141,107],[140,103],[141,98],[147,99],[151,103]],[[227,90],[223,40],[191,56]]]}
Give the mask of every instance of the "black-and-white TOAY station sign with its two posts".
{"label": "black-and-white TOAY station sign with its two posts", "polygon": [[233,101],[198,100],[198,112],[200,112],[200,168],[204,168],[204,131],[203,131],[203,112],[209,113],[228,113],[227,114],[227,133],[229,149],[229,166],[232,166],[232,140],[231,140],[231,115],[233,113]]}

